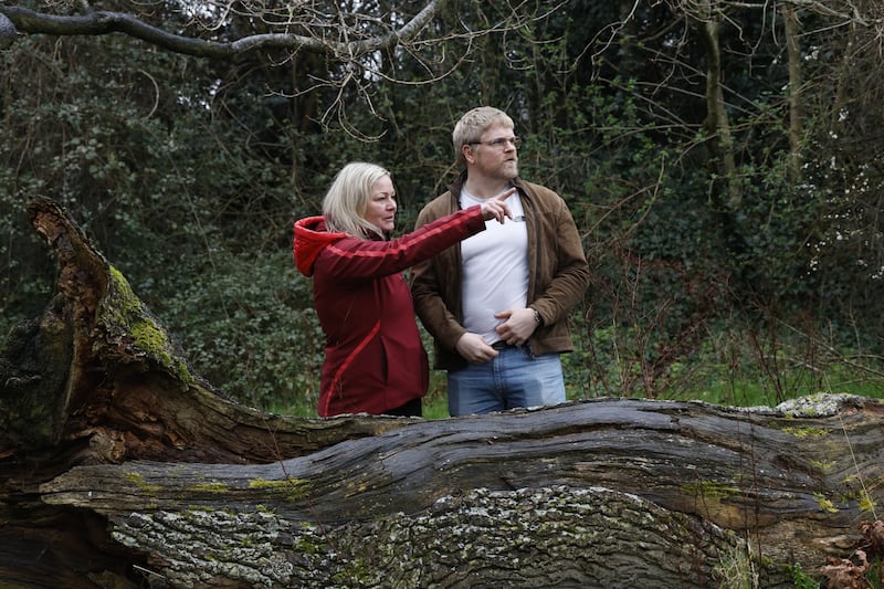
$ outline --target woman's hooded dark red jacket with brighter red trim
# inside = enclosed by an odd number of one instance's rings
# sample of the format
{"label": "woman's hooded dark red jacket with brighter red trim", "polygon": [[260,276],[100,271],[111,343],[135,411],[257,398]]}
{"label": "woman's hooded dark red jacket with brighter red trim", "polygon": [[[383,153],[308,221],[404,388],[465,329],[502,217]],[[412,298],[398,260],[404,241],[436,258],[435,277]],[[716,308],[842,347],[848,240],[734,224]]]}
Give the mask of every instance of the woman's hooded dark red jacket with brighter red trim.
{"label": "woman's hooded dark red jacket with brighter red trim", "polygon": [[328,232],[322,217],[295,223],[295,264],[313,276],[326,335],[319,416],[380,414],[427,393],[427,353],[401,273],[484,229],[477,206],[390,241]]}

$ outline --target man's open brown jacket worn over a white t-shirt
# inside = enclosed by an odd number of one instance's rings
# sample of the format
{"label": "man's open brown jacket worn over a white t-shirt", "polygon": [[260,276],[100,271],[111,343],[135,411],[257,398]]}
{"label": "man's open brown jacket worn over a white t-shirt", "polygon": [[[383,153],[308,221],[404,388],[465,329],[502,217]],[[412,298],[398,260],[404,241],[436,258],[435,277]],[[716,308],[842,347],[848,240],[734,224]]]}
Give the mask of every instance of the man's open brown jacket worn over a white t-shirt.
{"label": "man's open brown jacket worn over a white t-shirt", "polygon": [[[418,215],[417,227],[450,214],[460,208],[459,197],[466,172],[448,192],[428,203]],[[565,201],[543,186],[520,179],[518,188],[528,229],[528,306],[544,319],[529,338],[535,355],[571,351],[568,316],[582,301],[589,285],[589,267],[580,235]],[[411,296],[414,311],[435,349],[434,367],[452,370],[466,366],[454,346],[466,333],[461,305],[461,244],[444,250],[411,269]]]}

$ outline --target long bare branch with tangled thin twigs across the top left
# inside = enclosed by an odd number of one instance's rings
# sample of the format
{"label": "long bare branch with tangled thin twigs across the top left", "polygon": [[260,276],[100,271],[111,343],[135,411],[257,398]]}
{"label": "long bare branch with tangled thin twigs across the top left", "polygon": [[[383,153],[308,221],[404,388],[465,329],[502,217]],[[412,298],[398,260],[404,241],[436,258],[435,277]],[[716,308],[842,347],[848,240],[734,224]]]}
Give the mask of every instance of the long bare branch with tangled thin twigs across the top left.
{"label": "long bare branch with tangled thin twigs across the top left", "polygon": [[[345,96],[357,96],[361,106],[377,118],[375,107],[381,83],[421,85],[448,77],[476,49],[476,39],[518,30],[549,18],[561,4],[541,9],[520,0],[507,3],[499,20],[480,17],[480,25],[462,21],[446,27],[442,22],[450,0],[423,0],[397,8],[394,12],[352,12],[335,3],[265,3],[207,0],[180,4],[177,28],[152,24],[145,8],[131,12],[91,11],[81,14],[52,14],[21,6],[0,6],[0,49],[24,34],[95,36],[120,33],[159,49],[211,60],[234,60],[255,52],[275,65],[291,61],[299,52],[322,54],[333,64],[323,72],[311,72],[307,87],[281,96],[297,96],[320,88],[335,98],[323,111],[319,123],[337,122],[341,128],[364,140],[377,139],[348,122]],[[45,10],[45,9],[44,9]],[[238,29],[245,27],[245,29]],[[250,34],[254,33],[254,34]],[[411,61],[424,75],[414,78],[397,69],[385,69],[383,60]]]}

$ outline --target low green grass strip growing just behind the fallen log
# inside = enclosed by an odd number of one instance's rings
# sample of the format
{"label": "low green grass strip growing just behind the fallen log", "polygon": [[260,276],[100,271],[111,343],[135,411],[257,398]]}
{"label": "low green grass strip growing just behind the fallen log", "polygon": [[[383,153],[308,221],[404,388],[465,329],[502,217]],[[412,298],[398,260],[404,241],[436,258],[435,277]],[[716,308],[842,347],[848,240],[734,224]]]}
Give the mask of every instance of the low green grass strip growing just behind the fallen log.
{"label": "low green grass strip growing just behind the fallen log", "polygon": [[[562,356],[568,400],[633,398],[775,407],[820,392],[884,398],[884,359],[835,353],[832,346],[807,338],[780,339],[776,349],[759,349],[751,337],[728,333],[665,366],[635,360],[640,355],[631,353],[628,340],[604,340],[603,350],[593,344],[597,340],[576,332],[575,351]],[[432,349],[425,334],[424,347]],[[431,370],[423,399],[425,419],[449,417],[445,380],[444,371]],[[316,417],[315,392],[292,397],[271,398],[266,409]]]}

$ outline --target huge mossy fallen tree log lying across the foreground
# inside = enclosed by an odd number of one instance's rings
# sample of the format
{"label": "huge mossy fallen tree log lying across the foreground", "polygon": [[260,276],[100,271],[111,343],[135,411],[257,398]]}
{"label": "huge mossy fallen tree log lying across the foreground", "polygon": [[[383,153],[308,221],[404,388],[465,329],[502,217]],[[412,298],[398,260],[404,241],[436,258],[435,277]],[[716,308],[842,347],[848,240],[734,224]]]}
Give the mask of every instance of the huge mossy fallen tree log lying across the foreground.
{"label": "huge mossy fallen tree log lying across the foreground", "polygon": [[61,208],[30,210],[60,294],[0,358],[11,586],[791,587],[875,518],[884,406],[863,398],[434,421],[243,407]]}

